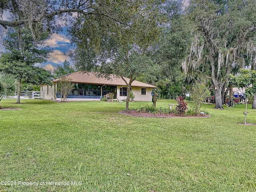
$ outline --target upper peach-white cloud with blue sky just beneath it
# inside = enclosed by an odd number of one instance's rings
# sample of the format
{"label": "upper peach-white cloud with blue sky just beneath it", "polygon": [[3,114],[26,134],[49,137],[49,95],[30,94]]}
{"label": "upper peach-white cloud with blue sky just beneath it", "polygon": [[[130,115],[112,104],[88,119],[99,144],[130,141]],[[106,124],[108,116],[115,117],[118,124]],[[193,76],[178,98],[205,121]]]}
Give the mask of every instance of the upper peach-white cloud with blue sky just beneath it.
{"label": "upper peach-white cloud with blue sky just beneath it", "polygon": [[66,46],[66,43],[70,43],[70,40],[64,34],[53,34],[44,44],[51,48],[56,48]]}

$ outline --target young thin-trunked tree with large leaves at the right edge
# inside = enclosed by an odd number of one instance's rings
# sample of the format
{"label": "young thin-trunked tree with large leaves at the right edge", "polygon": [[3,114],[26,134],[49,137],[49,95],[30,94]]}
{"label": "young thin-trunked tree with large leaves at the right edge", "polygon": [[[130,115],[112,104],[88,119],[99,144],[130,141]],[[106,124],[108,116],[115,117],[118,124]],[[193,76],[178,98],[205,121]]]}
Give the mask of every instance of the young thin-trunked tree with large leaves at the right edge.
{"label": "young thin-trunked tree with large leaves at the right edge", "polygon": [[245,88],[246,106],[245,106],[245,112],[244,112],[244,124],[246,124],[247,98],[249,96],[253,96],[256,92],[256,70],[241,68],[239,69],[238,72],[239,72],[238,76],[230,75],[229,81],[235,84],[238,88]]}

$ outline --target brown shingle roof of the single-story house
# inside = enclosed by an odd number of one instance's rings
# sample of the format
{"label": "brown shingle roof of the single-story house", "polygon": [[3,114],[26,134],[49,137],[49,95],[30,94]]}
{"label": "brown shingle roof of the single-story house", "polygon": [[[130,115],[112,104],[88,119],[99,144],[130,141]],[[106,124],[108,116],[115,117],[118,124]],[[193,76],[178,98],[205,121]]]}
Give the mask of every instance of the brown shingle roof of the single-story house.
{"label": "brown shingle roof of the single-story house", "polygon": [[[66,77],[72,79],[72,82],[74,83],[84,83],[84,84],[106,84],[106,85],[118,85],[118,86],[126,86],[124,80],[120,77],[116,77],[115,75],[111,75],[110,78],[104,78],[104,77],[98,77],[96,73],[92,72],[74,72],[68,75],[65,75]],[[53,82],[58,82],[61,77],[54,79]],[[129,82],[129,78],[124,78],[127,82]],[[145,88],[157,88],[156,86],[142,83],[139,81],[133,81],[132,82],[133,87],[145,87]]]}

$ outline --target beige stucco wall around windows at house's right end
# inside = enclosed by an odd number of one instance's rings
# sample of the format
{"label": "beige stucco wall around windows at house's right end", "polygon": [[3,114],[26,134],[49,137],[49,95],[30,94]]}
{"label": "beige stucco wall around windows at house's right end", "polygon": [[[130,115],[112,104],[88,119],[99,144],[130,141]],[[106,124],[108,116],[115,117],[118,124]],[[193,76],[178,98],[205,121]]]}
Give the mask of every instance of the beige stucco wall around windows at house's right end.
{"label": "beige stucco wall around windows at house's right end", "polygon": [[[118,100],[126,99],[126,96],[120,96],[120,87],[122,86],[117,86],[117,98]],[[152,88],[146,88],[146,95],[141,94],[141,87],[132,87],[132,92],[135,96],[134,101],[152,101]]]}

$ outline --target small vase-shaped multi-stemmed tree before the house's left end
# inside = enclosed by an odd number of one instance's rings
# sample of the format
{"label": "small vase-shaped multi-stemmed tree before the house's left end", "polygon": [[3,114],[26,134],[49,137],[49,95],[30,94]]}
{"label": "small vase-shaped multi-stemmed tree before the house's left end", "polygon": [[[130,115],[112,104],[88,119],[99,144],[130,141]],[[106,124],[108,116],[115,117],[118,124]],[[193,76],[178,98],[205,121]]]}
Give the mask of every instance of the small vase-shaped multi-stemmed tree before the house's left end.
{"label": "small vase-shaped multi-stemmed tree before the house's left end", "polygon": [[74,89],[74,83],[71,81],[70,78],[62,77],[57,84],[57,92],[61,96],[61,102],[66,102],[68,93]]}

